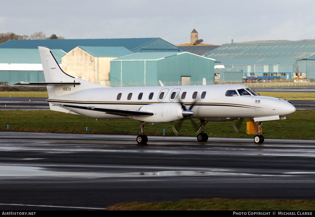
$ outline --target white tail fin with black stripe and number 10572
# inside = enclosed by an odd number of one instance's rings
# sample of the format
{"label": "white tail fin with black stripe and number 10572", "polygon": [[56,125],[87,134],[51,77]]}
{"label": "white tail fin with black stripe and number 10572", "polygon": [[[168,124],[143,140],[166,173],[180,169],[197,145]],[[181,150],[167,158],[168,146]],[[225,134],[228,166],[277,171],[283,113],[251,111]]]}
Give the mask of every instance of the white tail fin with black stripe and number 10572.
{"label": "white tail fin with black stripe and number 10572", "polygon": [[49,98],[89,88],[107,87],[66,74],[62,71],[53,54],[47,47],[38,47],[38,50],[43,65]]}

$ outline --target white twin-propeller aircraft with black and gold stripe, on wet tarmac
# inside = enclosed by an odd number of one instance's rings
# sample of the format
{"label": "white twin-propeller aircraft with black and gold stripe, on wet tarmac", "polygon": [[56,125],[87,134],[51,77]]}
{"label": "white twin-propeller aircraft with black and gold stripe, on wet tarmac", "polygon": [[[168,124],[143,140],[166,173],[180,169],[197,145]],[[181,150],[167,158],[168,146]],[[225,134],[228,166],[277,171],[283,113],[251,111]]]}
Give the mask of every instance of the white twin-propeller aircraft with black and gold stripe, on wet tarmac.
{"label": "white twin-propeller aircraft with black and gold stripe, on wet tarmac", "polygon": [[257,124],[255,143],[263,143],[261,122],[283,120],[295,112],[290,103],[257,95],[243,85],[107,87],[74,78],[59,67],[51,51],[38,47],[46,82],[15,85],[46,85],[51,110],[80,114],[95,119],[134,119],[140,121],[139,144],[148,138],[143,128],[147,123],[167,123],[199,119],[198,141],[208,135],[203,127],[208,121],[254,118]]}

